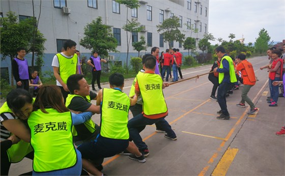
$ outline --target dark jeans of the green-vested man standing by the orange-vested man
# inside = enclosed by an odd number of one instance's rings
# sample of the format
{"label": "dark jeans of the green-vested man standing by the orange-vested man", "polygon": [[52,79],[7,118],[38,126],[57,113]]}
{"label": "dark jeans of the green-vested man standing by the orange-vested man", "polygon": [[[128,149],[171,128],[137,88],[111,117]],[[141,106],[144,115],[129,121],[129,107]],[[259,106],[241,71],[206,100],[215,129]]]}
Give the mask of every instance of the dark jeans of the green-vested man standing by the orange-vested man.
{"label": "dark jeans of the green-vested man standing by the orange-vested man", "polygon": [[225,95],[227,91],[231,89],[231,83],[222,82],[218,88],[218,103],[224,115],[230,115],[229,111],[227,111]]}

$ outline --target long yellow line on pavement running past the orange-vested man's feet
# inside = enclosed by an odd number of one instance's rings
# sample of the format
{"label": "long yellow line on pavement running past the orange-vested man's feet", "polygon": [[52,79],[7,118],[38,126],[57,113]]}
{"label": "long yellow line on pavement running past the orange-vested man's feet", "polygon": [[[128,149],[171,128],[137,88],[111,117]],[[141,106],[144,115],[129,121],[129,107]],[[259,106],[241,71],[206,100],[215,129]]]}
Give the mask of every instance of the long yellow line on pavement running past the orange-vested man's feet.
{"label": "long yellow line on pavement running past the orange-vested man's feet", "polygon": [[[265,86],[268,84],[268,80],[264,83],[264,85],[261,87],[260,91],[258,92],[258,94],[254,97],[254,99],[252,100],[252,102],[255,102],[256,99],[258,98],[258,96],[261,94],[261,91],[264,90]],[[245,109],[245,111],[243,112],[243,114],[240,116],[239,120],[236,122],[236,124],[234,125],[234,127],[231,129],[231,131],[226,135],[225,139],[228,140],[232,134],[234,133],[234,131],[236,130],[237,126],[241,123],[241,120],[244,118],[246,112],[249,110],[249,106]],[[208,165],[205,166],[202,171],[198,174],[198,176],[204,176],[206,174],[206,172],[208,171],[208,169],[210,168],[210,165],[214,162],[214,160],[217,158],[218,156],[218,152],[222,150],[222,147],[224,146],[225,141],[222,141],[222,143],[220,144],[220,146],[218,147],[217,151],[213,154],[213,156],[209,159],[208,161]]]}

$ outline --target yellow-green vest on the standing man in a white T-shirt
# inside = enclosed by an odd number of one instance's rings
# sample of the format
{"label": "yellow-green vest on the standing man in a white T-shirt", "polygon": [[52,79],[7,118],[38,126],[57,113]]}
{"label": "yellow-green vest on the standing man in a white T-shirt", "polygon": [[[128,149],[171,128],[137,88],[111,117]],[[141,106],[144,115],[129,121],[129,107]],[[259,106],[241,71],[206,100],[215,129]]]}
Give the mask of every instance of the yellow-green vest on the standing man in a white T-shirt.
{"label": "yellow-green vest on the standing man in a white T-shirt", "polygon": [[70,75],[76,74],[77,67],[77,54],[74,54],[72,58],[67,58],[63,56],[61,53],[57,53],[56,56],[59,58],[60,65],[60,76],[64,83],[67,82],[67,78]]}

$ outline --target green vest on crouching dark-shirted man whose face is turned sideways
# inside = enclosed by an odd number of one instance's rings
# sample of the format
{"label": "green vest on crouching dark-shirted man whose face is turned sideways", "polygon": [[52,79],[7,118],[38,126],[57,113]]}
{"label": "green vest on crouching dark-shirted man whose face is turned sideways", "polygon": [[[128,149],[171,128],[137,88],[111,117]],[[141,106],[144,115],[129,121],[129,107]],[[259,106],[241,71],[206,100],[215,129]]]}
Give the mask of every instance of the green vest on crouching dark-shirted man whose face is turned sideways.
{"label": "green vest on crouching dark-shirted man whose face is turned sideways", "polygon": [[[68,96],[66,98],[66,103],[65,103],[66,107],[68,107],[70,105],[70,103],[74,97],[81,97],[86,101],[86,99],[80,95],[68,94]],[[90,96],[88,95],[88,96],[86,96],[86,98],[87,98],[87,101],[90,103],[91,102]],[[76,131],[76,127],[78,127],[78,126],[82,127],[83,125],[87,129],[87,130],[84,130],[84,131],[87,131],[87,133],[78,135],[77,131]],[[92,121],[92,119],[90,119],[90,120],[84,122],[83,124],[75,125],[75,126],[73,125],[71,131],[72,131],[73,136],[78,136],[80,139],[84,140],[84,139],[88,138],[89,136],[91,136],[96,131],[95,123]]]}

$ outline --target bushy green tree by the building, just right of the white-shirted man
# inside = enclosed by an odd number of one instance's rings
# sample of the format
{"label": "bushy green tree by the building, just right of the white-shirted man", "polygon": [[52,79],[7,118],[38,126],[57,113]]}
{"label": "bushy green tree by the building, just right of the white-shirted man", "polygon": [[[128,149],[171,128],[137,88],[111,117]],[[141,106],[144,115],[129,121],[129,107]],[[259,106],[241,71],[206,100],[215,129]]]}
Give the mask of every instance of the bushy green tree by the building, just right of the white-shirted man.
{"label": "bushy green tree by the building, just right of the white-shirted man", "polygon": [[110,28],[102,24],[101,17],[84,27],[84,37],[79,43],[87,49],[96,50],[102,57],[108,56],[108,51],[117,52],[117,40]]}

